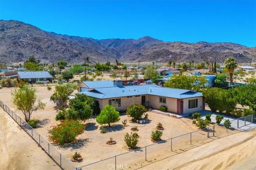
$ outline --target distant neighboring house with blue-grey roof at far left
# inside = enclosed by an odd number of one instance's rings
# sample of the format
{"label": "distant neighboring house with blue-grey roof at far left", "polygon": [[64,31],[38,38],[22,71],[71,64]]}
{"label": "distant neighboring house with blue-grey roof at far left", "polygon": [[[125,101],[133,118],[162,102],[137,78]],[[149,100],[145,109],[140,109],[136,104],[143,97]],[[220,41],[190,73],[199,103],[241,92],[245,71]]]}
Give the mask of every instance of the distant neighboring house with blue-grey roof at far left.
{"label": "distant neighboring house with blue-grey roof at far left", "polygon": [[47,71],[18,71],[18,80],[27,81],[29,83],[48,81],[52,82],[52,76]]}

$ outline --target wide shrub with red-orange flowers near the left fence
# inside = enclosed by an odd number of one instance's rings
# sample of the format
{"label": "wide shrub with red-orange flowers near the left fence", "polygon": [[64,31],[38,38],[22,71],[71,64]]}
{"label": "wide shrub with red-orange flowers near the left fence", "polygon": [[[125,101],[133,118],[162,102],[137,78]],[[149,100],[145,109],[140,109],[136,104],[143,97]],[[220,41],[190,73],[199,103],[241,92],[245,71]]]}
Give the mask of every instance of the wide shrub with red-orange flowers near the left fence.
{"label": "wide shrub with red-orange flowers near the left fence", "polygon": [[63,145],[75,141],[77,135],[83,133],[84,128],[84,124],[79,121],[63,120],[49,131],[49,138],[53,143]]}

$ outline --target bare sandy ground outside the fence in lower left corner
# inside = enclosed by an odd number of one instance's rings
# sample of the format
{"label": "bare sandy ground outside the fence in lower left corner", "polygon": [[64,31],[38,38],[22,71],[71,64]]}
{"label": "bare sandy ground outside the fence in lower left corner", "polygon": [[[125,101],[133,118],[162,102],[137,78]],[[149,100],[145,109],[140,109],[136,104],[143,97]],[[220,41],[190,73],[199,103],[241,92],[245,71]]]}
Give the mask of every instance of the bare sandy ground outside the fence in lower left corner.
{"label": "bare sandy ground outside the fence in lower left corner", "polygon": [[60,169],[36,142],[0,108],[1,169]]}

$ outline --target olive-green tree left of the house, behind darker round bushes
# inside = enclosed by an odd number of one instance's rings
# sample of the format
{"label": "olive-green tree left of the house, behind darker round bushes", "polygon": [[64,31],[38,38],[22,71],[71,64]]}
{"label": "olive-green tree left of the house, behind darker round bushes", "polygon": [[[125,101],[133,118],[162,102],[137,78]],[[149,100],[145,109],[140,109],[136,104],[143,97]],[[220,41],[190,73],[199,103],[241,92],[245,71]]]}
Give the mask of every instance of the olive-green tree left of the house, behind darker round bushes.
{"label": "olive-green tree left of the house, behind darker round bushes", "polygon": [[69,95],[76,89],[76,83],[60,84],[55,87],[55,91],[51,96],[51,100],[56,104],[56,109],[63,109],[68,107]]}

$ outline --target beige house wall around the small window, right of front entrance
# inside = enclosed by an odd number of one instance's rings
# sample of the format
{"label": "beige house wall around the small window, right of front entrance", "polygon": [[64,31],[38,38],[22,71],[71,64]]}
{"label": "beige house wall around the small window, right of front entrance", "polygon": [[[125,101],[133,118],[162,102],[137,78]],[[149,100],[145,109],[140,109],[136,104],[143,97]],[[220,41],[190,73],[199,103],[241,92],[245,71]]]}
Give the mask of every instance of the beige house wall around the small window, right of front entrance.
{"label": "beige house wall around the small window, right of front entrance", "polygon": [[177,113],[177,99],[165,97],[166,104],[164,104],[159,103],[159,97],[161,96],[148,95],[146,101],[149,101],[149,106],[155,109],[159,109],[160,106],[165,106],[168,112]]}

